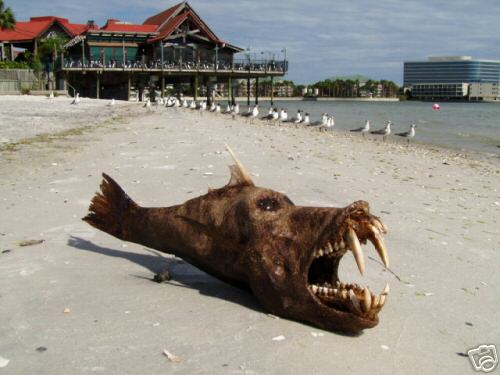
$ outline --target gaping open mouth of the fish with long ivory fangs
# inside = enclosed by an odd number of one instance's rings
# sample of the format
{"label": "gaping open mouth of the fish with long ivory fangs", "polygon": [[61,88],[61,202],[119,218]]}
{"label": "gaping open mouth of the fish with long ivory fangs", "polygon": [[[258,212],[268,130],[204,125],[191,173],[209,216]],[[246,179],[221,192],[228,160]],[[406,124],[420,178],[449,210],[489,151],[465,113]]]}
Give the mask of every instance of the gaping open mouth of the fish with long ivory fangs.
{"label": "gaping open mouth of the fish with long ivory fangs", "polygon": [[337,233],[313,252],[307,276],[307,287],[313,297],[329,308],[363,319],[376,319],[386,302],[389,285],[380,294],[376,294],[368,287],[340,281],[338,269],[342,257],[350,251],[360,273],[364,274],[365,261],[361,244],[368,241],[374,245],[384,265],[389,267],[389,257],[382,239],[385,233],[387,227],[369,214],[346,220]]}

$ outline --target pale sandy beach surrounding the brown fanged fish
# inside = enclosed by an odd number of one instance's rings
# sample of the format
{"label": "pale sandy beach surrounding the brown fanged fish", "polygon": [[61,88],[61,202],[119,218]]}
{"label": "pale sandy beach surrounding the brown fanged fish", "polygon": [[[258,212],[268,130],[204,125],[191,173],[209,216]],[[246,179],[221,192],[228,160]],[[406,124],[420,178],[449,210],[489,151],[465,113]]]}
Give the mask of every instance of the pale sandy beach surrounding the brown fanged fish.
{"label": "pale sandy beach surrounding the brown fanged fish", "polygon": [[[500,349],[498,161],[141,103],[70,102],[0,98],[0,373],[465,374],[474,373],[467,350]],[[223,186],[225,143],[258,186],[296,204],[370,203],[390,228],[391,268],[365,246],[365,276],[346,256],[340,277],[376,291],[390,284],[377,327],[350,336],[277,319],[188,263],[81,221],[102,172],[144,206]],[[152,282],[165,267],[172,281]]]}

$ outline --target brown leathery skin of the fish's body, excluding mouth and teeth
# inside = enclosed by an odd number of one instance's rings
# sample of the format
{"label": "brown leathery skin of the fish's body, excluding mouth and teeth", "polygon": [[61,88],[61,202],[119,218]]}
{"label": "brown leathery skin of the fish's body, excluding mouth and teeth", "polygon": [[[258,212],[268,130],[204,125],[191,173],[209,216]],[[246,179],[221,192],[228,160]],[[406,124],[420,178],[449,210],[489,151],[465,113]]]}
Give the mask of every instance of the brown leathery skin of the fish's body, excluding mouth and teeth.
{"label": "brown leathery skin of the fish's body, excluding mouth and teeth", "polygon": [[[301,207],[279,192],[254,186],[232,168],[228,185],[165,208],[135,204],[103,174],[101,193],[83,218],[125,241],[174,254],[235,286],[250,289],[271,313],[332,331],[378,324],[328,307],[307,287],[315,249],[356,226],[366,242],[368,203],[345,208]],[[338,266],[338,261],[336,261]]]}

